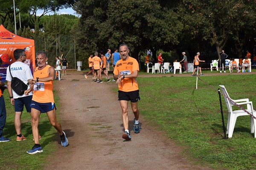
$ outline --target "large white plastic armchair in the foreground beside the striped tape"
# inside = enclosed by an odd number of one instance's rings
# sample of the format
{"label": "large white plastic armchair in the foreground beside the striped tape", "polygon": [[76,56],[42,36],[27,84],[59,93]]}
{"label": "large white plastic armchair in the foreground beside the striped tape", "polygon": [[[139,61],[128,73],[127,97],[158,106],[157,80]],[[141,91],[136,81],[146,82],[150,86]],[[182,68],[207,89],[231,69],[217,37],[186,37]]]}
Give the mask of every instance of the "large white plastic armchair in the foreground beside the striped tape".
{"label": "large white plastic armchair in the foreground beside the striped tape", "polygon": [[[220,87],[221,87],[222,93],[225,96],[230,98],[225,86],[220,85]],[[227,134],[228,134],[228,137],[231,138],[233,135],[235,124],[236,124],[236,118],[238,116],[249,116],[249,114],[247,114],[243,110],[233,110],[232,106],[235,106],[235,104],[233,104],[225,96],[224,96],[224,99],[225,99],[225,102],[227,105],[227,110],[228,110]],[[233,99],[231,99],[231,100],[233,100]],[[248,111],[249,113],[251,113],[253,116],[256,116],[256,111],[253,110],[253,102],[249,102],[249,99],[238,99],[238,100],[233,100],[233,102],[236,102],[236,104],[238,104],[238,105],[247,105],[247,109],[245,109],[245,110]],[[253,119],[253,116],[250,116],[251,133],[254,133],[255,125],[256,125],[256,120]],[[256,138],[256,133],[254,133],[254,138]]]}

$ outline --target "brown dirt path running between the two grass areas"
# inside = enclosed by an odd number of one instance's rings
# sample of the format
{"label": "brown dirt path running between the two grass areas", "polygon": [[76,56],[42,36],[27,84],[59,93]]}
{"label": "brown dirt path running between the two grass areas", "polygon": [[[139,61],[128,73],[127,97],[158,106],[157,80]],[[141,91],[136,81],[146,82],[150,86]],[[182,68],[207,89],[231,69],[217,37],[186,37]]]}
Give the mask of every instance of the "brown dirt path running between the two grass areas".
{"label": "brown dirt path running between the two grass areas", "polygon": [[[143,77],[147,76],[152,75]],[[154,76],[158,77],[157,74]],[[124,141],[121,108],[117,93],[112,90],[117,86],[115,82],[99,84],[93,82],[91,76],[84,79],[82,72],[69,73],[61,78],[61,81],[55,81],[55,89],[61,99],[58,109],[69,145],[64,148],[56,140],[57,152],[49,157],[51,163],[45,167],[46,170],[209,169],[187,161],[181,155],[181,148],[154,130],[142,116],[141,132],[135,134],[130,107],[128,116],[132,140]],[[74,79],[79,81],[72,81]]]}

